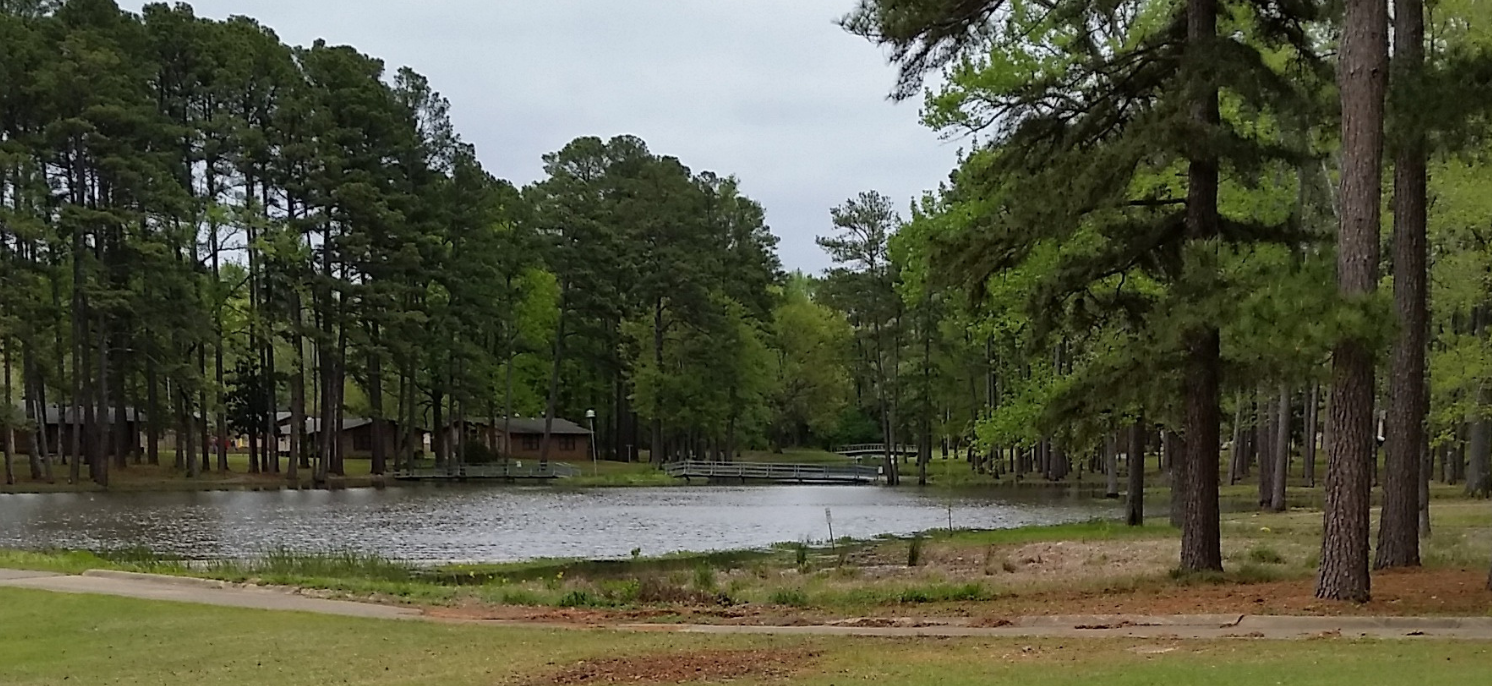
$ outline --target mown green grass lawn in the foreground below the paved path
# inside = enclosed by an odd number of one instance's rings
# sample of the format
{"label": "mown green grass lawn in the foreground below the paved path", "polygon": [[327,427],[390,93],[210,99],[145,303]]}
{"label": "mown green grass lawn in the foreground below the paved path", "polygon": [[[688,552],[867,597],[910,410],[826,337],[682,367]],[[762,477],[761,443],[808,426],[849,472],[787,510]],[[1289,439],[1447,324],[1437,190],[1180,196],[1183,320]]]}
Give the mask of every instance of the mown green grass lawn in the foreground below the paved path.
{"label": "mown green grass lawn in the foreground below the paved path", "polygon": [[1483,685],[1450,641],[704,637],[379,622],[0,589],[0,683]]}

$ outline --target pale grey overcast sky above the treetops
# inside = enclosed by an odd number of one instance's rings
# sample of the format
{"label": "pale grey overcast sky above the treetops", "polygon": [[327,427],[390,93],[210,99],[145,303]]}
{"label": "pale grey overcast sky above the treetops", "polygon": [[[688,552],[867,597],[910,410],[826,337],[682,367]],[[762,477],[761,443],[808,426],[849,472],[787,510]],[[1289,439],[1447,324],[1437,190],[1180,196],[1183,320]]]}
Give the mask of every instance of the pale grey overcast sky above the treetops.
{"label": "pale grey overcast sky above the treetops", "polygon": [[[139,9],[143,3],[122,3]],[[788,268],[828,259],[830,207],[876,189],[907,206],[956,148],[892,104],[895,72],[834,19],[853,0],[195,0],[292,45],[409,66],[452,103],[482,164],[525,185],[579,136],[634,134],[767,207]]]}

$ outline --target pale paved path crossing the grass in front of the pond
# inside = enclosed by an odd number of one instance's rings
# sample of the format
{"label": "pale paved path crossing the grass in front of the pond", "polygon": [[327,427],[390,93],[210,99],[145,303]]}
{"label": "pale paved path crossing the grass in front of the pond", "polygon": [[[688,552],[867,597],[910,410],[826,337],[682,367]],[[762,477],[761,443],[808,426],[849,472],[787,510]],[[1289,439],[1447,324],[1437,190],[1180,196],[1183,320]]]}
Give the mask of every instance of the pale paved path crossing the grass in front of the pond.
{"label": "pale paved path crossing the grass in front of the pond", "polygon": [[[428,617],[407,607],[377,605],[307,598],[285,591],[234,586],[201,579],[161,577],[116,571],[90,571],[82,576],[0,570],[0,588],[51,591],[58,594],[116,595],[170,602],[245,607],[252,610],[304,611],[366,619],[454,622]],[[455,623],[567,628],[522,622],[455,620]],[[1007,626],[910,625],[910,620],[847,620],[824,626],[736,626],[736,625],[616,625],[622,631],[677,634],[770,634],[770,635],[844,635],[844,637],[1094,637],[1094,638],[1461,638],[1492,641],[1492,617],[1268,617],[1246,614],[1186,616],[1050,616],[1021,617]],[[900,623],[900,625],[898,625]]]}

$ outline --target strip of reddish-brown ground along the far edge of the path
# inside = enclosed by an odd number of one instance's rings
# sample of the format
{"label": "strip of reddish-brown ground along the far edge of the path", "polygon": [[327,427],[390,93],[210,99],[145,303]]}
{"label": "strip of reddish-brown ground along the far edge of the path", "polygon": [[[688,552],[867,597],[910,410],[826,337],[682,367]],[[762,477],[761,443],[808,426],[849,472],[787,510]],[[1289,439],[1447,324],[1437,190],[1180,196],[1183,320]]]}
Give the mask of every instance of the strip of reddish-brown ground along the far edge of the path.
{"label": "strip of reddish-brown ground along the far edge of the path", "polygon": [[[1137,589],[1038,591],[991,601],[955,604],[897,604],[873,610],[888,625],[918,625],[918,619],[944,623],[1000,626],[1013,617],[1050,614],[1317,614],[1317,616],[1489,616],[1492,592],[1479,570],[1408,570],[1373,577],[1373,601],[1328,602],[1314,595],[1314,580],[1268,583],[1170,583]],[[652,607],[637,610],[555,610],[543,607],[471,605],[427,608],[433,617],[543,622],[606,626],[616,623],[719,623],[804,626],[843,622],[843,614],[776,605]]]}

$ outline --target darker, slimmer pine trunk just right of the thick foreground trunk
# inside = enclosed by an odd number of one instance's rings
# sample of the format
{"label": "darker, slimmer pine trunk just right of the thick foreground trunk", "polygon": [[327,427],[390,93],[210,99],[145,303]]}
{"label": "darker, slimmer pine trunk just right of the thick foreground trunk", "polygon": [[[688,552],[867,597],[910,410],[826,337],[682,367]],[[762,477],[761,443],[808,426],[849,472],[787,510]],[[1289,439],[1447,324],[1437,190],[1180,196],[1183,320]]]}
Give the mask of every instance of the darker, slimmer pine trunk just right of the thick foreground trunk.
{"label": "darker, slimmer pine trunk just right of the thick foreground trunk", "polygon": [[[1420,79],[1425,61],[1423,0],[1394,0],[1394,88],[1397,104],[1408,109],[1405,91]],[[1413,116],[1404,116],[1413,127]],[[1389,416],[1383,465],[1383,514],[1374,567],[1419,567],[1419,491],[1428,450],[1425,422],[1429,398],[1425,355],[1429,347],[1426,291],[1428,172],[1425,139],[1405,131],[1394,161],[1394,306],[1399,334],[1389,371]]]}

